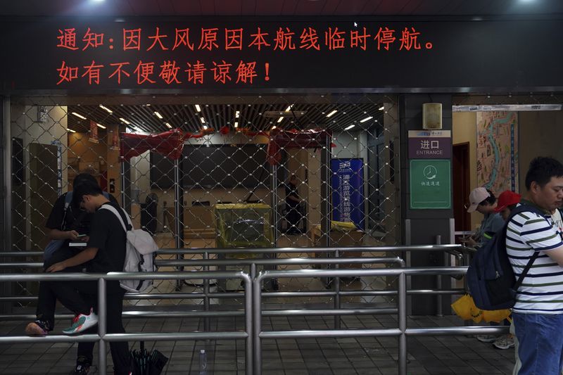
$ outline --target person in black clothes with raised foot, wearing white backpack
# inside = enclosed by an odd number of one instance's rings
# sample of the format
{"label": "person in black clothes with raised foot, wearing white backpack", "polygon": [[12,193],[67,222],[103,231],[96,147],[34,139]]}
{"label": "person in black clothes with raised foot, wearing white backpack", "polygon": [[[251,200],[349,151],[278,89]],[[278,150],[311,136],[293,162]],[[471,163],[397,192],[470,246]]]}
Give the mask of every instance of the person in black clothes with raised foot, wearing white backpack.
{"label": "person in black clothes with raised foot, wearing white backpack", "polygon": [[[80,207],[92,212],[90,236],[87,248],[72,258],[57,262],[46,269],[46,272],[61,272],[66,268],[85,265],[87,272],[107,273],[122,272],[125,262],[126,234],[121,223],[113,212],[99,210],[102,205],[119,205],[111,203],[103,196],[97,184],[84,183],[76,186],[73,200]],[[37,321],[27,325],[25,331],[31,335],[44,336],[52,327],[45,326],[41,320],[44,316],[54,316],[56,299],[75,313],[72,325],[63,330],[65,334],[87,332],[98,324],[96,315],[98,302],[98,283],[96,281],[46,281],[39,291],[39,301],[46,301],[37,306]],[[107,282],[107,332],[125,333],[122,323],[123,295],[119,281]],[[42,295],[43,293],[43,295]],[[94,331],[95,332],[95,331]],[[81,352],[91,353],[94,343],[80,343]],[[129,348],[127,342],[110,342],[113,367],[116,375],[129,374]]]}

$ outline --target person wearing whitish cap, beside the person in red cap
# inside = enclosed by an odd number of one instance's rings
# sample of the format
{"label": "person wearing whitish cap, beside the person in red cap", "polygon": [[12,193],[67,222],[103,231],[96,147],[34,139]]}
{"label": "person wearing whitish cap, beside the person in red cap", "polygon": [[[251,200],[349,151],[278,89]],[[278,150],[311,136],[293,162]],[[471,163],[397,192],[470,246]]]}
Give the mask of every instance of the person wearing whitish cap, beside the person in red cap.
{"label": "person wearing whitish cap, beside the person in red cap", "polygon": [[497,200],[493,192],[488,189],[479,187],[469,193],[467,212],[477,211],[483,214],[483,221],[481,222],[481,227],[469,239],[463,240],[467,246],[483,246],[483,243],[491,239],[493,234],[502,229],[505,221],[502,220],[498,212],[495,212],[496,206]]}

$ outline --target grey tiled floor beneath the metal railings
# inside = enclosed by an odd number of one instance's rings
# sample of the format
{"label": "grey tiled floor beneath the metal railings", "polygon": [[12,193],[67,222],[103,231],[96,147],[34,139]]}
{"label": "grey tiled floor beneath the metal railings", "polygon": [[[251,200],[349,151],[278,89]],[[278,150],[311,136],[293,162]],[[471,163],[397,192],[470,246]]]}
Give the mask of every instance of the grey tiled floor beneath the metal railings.
{"label": "grey tiled floor beneath the metal railings", "polygon": [[[264,330],[330,329],[332,317],[265,318]],[[58,322],[55,331],[66,322]],[[409,327],[461,325],[457,317],[411,317]],[[24,322],[0,322],[2,336],[20,336]],[[396,327],[392,316],[343,317],[342,328]],[[128,332],[175,332],[203,329],[199,319],[129,319]],[[243,329],[239,318],[213,319],[212,329]],[[37,343],[0,345],[0,374],[68,374],[75,363],[75,345]],[[97,348],[97,345],[96,345]],[[139,343],[134,343],[139,348]],[[243,374],[244,342],[160,341],[146,343],[170,358],[163,374],[198,374],[198,353],[208,355],[208,375]],[[262,341],[263,374],[346,375],[397,374],[396,338],[303,338]],[[408,374],[512,374],[514,350],[495,350],[465,336],[417,337],[408,339]],[[97,354],[96,354],[97,355]],[[108,374],[112,374],[108,355]],[[97,372],[97,371],[96,371]]]}

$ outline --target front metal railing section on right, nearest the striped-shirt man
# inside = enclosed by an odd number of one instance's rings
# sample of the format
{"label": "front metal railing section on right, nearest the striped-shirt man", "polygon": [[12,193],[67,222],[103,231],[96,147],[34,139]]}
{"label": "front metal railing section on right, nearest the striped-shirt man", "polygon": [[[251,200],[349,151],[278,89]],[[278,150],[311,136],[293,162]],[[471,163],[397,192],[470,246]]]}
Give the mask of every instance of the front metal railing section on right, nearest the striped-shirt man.
{"label": "front metal railing section on right, nearest the striped-shirt man", "polygon": [[[291,270],[260,272],[253,280],[253,341],[255,374],[262,374],[262,338],[312,338],[312,337],[365,337],[365,336],[397,336],[399,341],[398,372],[407,374],[407,336],[451,336],[460,334],[491,334],[508,333],[508,327],[501,326],[464,326],[464,327],[431,327],[407,329],[406,314],[406,276],[417,274],[465,274],[467,267],[413,267],[398,269],[334,269],[334,270]],[[307,330],[307,331],[262,331],[262,293],[261,283],[267,279],[303,278],[303,277],[349,277],[349,276],[397,276],[398,277],[398,329],[358,329],[358,330]],[[293,315],[287,310],[282,316]]]}

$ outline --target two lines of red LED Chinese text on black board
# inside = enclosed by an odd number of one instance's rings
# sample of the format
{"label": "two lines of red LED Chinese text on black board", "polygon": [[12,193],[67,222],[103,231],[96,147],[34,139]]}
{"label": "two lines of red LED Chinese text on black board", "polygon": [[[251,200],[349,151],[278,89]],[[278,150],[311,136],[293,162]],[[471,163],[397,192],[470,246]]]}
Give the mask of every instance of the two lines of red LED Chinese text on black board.
{"label": "two lines of red LED Chinese text on black board", "polygon": [[[65,26],[56,30],[53,42],[62,58],[56,68],[56,85],[65,87],[76,80],[89,85],[104,81],[113,84],[151,85],[160,82],[168,86],[213,84],[254,84],[257,80],[270,81],[279,70],[291,70],[291,61],[280,61],[283,53],[306,51],[336,53],[336,51],[360,50],[368,53],[417,53],[431,50],[432,42],[416,27],[357,27],[345,30],[341,27],[278,27],[267,32],[261,27],[248,28],[190,28],[174,27],[164,31],[160,27],[129,28],[118,32],[105,32],[96,27]],[[111,61],[101,61],[96,52],[110,56]],[[139,58],[128,58],[129,52]],[[156,60],[143,53],[158,51]],[[246,58],[232,58],[230,51],[239,51]],[[182,56],[178,56],[179,52]],[[278,53],[276,61],[261,58],[267,52]],[[198,57],[189,58],[196,54]],[[76,56],[88,58],[89,63],[72,63]],[[211,58],[208,58],[210,55]],[[252,57],[248,57],[252,56]],[[204,61],[205,59],[205,61]]]}

